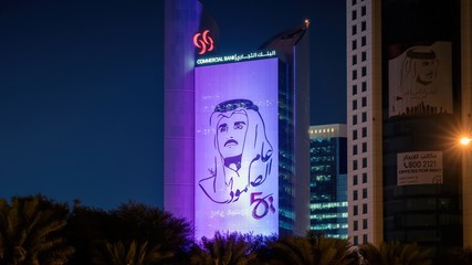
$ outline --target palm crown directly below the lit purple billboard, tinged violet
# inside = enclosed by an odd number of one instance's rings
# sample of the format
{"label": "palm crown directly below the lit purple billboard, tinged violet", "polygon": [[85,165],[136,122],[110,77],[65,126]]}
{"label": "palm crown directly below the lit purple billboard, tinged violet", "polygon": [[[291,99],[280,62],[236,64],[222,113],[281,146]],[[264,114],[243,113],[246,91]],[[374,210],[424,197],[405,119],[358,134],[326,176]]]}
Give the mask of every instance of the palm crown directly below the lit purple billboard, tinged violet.
{"label": "palm crown directly below the lit purple billboard, tinged violet", "polygon": [[245,265],[255,259],[251,247],[251,235],[237,232],[217,232],[209,240],[202,237],[191,255],[191,263],[198,265]]}

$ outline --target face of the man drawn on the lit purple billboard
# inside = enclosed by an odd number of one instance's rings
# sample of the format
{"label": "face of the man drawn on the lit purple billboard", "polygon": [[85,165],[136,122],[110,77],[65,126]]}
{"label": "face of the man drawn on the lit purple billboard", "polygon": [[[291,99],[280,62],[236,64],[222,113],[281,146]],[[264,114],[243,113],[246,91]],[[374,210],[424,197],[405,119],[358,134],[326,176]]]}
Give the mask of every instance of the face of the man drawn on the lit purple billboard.
{"label": "face of the man drawn on the lit purple billboard", "polygon": [[218,123],[218,149],[223,158],[242,155],[248,117],[242,113],[234,113],[230,117],[222,117]]}

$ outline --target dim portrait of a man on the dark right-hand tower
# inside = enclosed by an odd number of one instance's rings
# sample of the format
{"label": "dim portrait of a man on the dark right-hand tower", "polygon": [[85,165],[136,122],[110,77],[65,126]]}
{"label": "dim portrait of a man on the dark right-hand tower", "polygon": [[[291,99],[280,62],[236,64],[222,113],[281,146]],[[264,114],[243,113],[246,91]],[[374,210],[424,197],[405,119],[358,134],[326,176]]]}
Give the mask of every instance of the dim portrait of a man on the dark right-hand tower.
{"label": "dim portrait of a man on the dark right-hand tower", "polygon": [[390,112],[396,115],[450,113],[450,96],[447,96],[450,94],[450,87],[438,82],[439,66],[437,52],[431,46],[413,46],[407,50],[398,76],[400,83],[390,102]]}

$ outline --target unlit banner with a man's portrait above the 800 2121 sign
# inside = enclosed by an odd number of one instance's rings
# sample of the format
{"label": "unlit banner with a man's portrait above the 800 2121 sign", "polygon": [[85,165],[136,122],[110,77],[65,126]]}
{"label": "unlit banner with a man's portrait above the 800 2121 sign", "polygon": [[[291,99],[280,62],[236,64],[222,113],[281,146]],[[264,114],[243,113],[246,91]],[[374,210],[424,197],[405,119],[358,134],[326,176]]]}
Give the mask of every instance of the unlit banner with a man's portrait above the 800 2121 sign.
{"label": "unlit banner with a man's portrait above the 800 2121 sign", "polygon": [[450,42],[416,45],[401,54],[390,54],[389,117],[452,114],[451,67]]}

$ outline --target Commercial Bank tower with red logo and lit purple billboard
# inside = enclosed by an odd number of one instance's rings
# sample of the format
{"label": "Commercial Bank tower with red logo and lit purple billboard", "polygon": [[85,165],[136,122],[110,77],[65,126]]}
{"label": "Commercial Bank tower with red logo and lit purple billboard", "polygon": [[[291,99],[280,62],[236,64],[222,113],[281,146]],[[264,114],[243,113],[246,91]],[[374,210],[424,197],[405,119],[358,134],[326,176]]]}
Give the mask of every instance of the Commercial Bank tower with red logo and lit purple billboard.
{"label": "Commercial Bank tower with red logo and lit purple billboard", "polygon": [[308,23],[219,54],[219,29],[198,0],[168,0],[165,13],[165,210],[195,224],[197,239],[304,234]]}

